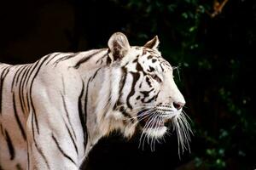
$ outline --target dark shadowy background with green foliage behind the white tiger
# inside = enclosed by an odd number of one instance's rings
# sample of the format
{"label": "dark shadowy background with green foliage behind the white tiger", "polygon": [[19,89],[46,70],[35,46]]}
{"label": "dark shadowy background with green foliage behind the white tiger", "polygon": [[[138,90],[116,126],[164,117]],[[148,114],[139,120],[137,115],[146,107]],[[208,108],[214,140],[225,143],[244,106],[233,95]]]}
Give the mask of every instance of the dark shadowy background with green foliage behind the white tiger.
{"label": "dark shadowy background with green foliage behind the white tiger", "polygon": [[[122,31],[131,45],[158,35],[194,131],[179,159],[175,133],[138,149],[139,134],[102,139],[84,167],[255,169],[256,1],[23,0],[0,3],[0,62],[34,62],[52,52],[106,48]],[[179,75],[178,75],[179,73]],[[179,78],[180,77],[180,78]]]}

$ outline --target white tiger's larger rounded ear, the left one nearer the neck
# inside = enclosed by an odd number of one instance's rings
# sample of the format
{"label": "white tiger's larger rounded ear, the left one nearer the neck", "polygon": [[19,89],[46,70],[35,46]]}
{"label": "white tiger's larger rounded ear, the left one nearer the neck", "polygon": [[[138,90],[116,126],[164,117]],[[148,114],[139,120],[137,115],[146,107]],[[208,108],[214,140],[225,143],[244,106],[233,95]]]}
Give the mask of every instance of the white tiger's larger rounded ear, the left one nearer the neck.
{"label": "white tiger's larger rounded ear, the left one nearer the neck", "polygon": [[113,60],[117,60],[122,59],[131,47],[125,34],[115,32],[108,40],[108,48]]}

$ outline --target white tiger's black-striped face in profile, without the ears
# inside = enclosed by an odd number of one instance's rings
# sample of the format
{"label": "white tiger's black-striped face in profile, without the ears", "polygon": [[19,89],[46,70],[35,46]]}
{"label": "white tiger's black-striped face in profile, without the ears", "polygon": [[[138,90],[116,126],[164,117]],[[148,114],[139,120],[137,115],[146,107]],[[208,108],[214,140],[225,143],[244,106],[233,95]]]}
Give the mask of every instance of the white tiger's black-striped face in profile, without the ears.
{"label": "white tiger's black-striped face in profile, without the ears", "polygon": [[167,122],[182,113],[185,100],[173,80],[172,66],[160,52],[141,48],[140,53],[137,59],[126,65],[126,68],[131,68],[127,72],[133,77],[132,88],[135,90],[132,95],[131,91],[124,91],[123,101],[126,99],[126,111],[137,117],[143,133],[160,138],[166,133]]}

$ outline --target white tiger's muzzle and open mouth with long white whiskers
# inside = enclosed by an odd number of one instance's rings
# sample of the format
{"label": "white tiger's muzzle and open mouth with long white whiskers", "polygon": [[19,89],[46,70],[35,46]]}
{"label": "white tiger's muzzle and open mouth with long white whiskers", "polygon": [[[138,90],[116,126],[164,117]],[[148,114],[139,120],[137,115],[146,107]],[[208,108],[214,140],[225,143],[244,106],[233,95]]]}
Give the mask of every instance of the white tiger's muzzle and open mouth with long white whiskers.
{"label": "white tiger's muzzle and open mouth with long white whiskers", "polygon": [[[187,116],[183,111],[173,111],[172,108],[162,109],[160,107],[151,108],[137,113],[138,127],[142,130],[139,139],[139,147],[144,148],[148,143],[150,149],[154,150],[155,141],[164,139],[168,128],[177,133],[178,154],[184,150],[189,150],[190,133],[193,134]],[[168,133],[167,133],[168,134]]]}

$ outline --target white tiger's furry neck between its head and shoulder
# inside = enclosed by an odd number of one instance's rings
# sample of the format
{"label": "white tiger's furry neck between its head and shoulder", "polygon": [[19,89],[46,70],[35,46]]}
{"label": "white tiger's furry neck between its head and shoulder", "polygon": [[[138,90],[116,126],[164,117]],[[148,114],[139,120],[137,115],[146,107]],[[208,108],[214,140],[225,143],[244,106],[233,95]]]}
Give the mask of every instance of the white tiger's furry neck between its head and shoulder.
{"label": "white tiger's furry neck between its head and shoulder", "polygon": [[111,116],[117,100],[114,99],[117,96],[114,93],[119,92],[121,71],[109,66],[111,59],[107,49],[95,50],[92,54],[94,56],[90,57],[89,54],[84,59],[73,61],[73,68],[79,72],[83,81],[81,99],[84,105],[81,105],[81,110],[84,110],[84,116],[80,118],[84,119],[84,128],[87,131],[84,157],[99,139],[122,126],[122,122],[117,122]]}

